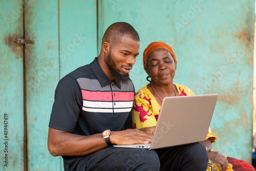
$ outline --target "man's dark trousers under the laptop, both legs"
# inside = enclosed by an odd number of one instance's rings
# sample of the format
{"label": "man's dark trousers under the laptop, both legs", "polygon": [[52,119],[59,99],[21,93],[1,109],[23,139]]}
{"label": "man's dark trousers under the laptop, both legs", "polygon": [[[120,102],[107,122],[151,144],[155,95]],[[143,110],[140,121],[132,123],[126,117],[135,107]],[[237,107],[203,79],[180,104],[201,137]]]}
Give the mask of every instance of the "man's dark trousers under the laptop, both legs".
{"label": "man's dark trousers under the laptop, both legs", "polygon": [[[208,157],[200,143],[148,151],[140,148],[104,148],[79,164],[85,170],[189,170],[207,169]],[[88,156],[87,156],[88,157]],[[78,166],[79,167],[79,166]],[[80,170],[77,168],[77,170]],[[84,170],[84,169],[83,169]]]}

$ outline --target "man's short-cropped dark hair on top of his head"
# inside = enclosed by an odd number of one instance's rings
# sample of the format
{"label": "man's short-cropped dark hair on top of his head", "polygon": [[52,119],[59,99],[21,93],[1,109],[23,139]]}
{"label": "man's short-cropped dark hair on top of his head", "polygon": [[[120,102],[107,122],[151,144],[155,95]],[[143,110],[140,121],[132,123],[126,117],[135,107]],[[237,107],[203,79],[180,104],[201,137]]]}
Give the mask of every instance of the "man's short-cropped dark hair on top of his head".
{"label": "man's short-cropped dark hair on top of his head", "polygon": [[105,41],[109,42],[109,44],[118,44],[121,42],[122,36],[129,37],[135,41],[140,41],[139,34],[133,26],[125,22],[117,22],[106,29],[102,38],[102,44]]}

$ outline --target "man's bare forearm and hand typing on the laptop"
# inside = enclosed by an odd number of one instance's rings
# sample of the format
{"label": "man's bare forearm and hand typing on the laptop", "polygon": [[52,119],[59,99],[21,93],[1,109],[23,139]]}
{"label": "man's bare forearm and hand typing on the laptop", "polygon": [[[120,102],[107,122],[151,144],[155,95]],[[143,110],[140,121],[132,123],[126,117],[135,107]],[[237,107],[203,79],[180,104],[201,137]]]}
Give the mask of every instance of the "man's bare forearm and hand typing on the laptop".
{"label": "man's bare forearm and hand typing on the laptop", "polygon": [[[128,129],[113,131],[110,140],[113,144],[149,143],[153,135]],[[101,134],[82,136],[49,127],[48,149],[52,156],[83,156],[108,146]]]}

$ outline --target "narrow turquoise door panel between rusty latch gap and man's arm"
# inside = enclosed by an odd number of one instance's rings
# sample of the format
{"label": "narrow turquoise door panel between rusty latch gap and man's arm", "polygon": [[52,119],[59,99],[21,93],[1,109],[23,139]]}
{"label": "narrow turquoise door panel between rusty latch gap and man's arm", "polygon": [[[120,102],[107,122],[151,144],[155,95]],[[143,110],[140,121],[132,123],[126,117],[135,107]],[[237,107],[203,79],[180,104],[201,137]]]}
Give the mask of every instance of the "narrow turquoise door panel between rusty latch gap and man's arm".
{"label": "narrow turquoise door panel between rusty latch gap and man's arm", "polygon": [[28,169],[60,170],[47,148],[48,124],[59,80],[58,2],[29,1],[25,10]]}

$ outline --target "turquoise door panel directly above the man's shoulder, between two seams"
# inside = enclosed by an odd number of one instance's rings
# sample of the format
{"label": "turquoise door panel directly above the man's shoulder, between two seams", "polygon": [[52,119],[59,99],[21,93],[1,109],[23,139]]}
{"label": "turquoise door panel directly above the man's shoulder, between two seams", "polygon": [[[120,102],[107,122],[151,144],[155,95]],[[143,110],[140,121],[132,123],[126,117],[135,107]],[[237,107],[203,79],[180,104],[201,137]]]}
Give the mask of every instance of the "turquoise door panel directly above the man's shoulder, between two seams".
{"label": "turquoise door panel directly above the man's shoulder, between two seams", "polygon": [[97,55],[96,0],[59,1],[60,78]]}

